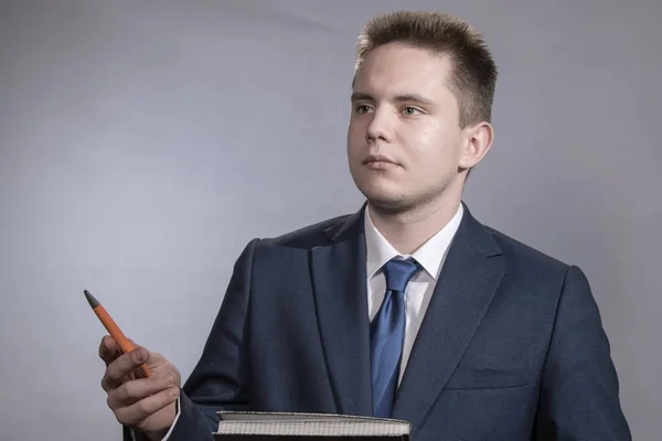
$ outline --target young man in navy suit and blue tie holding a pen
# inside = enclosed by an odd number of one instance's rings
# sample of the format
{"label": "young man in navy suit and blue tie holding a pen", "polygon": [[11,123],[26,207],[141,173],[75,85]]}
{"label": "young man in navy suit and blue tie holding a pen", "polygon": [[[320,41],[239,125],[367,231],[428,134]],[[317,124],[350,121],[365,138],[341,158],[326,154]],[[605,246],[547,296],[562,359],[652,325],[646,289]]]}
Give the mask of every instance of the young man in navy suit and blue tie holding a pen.
{"label": "young man in navy suit and blue tie holding a pen", "polygon": [[[490,149],[496,68],[441,13],[371,20],[349,165],[366,204],[239,256],[202,357],[180,374],[105,337],[127,437],[211,440],[218,409],[405,419],[416,441],[629,440],[588,282],[461,202]],[[142,363],[156,374],[137,378]]]}

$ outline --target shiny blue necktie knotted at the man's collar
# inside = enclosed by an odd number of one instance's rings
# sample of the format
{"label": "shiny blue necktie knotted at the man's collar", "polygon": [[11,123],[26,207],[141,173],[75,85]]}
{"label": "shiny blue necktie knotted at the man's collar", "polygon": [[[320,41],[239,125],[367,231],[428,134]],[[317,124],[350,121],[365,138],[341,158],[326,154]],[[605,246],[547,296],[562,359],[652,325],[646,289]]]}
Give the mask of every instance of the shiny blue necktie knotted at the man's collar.
{"label": "shiny blue necktie knotted at the man's collar", "polygon": [[420,269],[416,260],[392,259],[384,266],[386,295],[371,323],[373,409],[389,418],[405,341],[405,288]]}

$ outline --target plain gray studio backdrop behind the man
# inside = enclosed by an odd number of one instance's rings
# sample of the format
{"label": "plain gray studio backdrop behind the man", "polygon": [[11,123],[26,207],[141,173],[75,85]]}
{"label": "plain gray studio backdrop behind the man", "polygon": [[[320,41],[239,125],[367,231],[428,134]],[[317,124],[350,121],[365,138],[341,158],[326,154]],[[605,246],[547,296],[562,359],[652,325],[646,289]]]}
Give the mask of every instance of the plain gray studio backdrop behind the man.
{"label": "plain gray studio backdrop behind the man", "polygon": [[466,202],[588,275],[634,439],[659,439],[662,2],[0,1],[0,439],[117,440],[104,330],[190,374],[246,241],[349,213],[360,25],[489,40],[496,137]]}

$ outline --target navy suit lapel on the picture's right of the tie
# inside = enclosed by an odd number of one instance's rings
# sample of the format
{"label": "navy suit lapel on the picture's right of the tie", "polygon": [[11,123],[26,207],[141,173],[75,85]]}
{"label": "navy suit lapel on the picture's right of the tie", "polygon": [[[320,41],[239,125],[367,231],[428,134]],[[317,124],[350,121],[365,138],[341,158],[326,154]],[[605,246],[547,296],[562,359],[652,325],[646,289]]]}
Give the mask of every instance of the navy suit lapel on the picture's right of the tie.
{"label": "navy suit lapel on the picture's right of the tie", "polygon": [[500,255],[465,206],[393,410],[393,418],[412,422],[414,430],[444,390],[492,301],[505,273]]}

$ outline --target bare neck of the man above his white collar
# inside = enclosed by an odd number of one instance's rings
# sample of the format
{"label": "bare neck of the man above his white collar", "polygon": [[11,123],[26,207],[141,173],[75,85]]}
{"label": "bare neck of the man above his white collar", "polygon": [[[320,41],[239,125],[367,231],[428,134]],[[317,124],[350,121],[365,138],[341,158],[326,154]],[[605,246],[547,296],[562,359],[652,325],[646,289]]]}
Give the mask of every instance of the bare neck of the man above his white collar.
{"label": "bare neck of the man above his white collar", "polygon": [[389,213],[369,202],[370,218],[393,248],[410,255],[448,225],[460,203],[458,197],[407,212]]}

